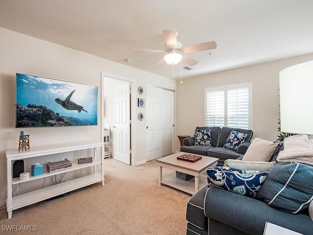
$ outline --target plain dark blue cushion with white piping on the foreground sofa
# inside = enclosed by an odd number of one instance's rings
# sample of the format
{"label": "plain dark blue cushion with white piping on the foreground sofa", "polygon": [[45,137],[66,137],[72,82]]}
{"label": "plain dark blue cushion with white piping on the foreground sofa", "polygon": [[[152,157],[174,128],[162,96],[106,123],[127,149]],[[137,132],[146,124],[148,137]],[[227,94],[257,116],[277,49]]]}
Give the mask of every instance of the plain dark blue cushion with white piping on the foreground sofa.
{"label": "plain dark blue cushion with white piping on the foreground sofa", "polygon": [[313,167],[301,163],[277,163],[268,171],[257,199],[289,213],[309,207],[313,199]]}

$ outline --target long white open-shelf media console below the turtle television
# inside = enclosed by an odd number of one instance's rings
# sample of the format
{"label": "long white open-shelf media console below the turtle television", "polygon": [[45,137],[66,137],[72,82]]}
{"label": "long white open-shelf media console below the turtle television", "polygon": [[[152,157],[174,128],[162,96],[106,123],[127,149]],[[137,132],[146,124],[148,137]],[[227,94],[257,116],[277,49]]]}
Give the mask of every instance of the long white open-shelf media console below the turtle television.
{"label": "long white open-shelf media console below the turtle television", "polygon": [[[72,162],[72,168],[49,173],[45,168],[42,175],[31,176],[29,179],[20,180],[20,178],[13,178],[12,176],[12,165],[16,160],[24,160],[29,158],[38,158],[36,161],[40,160],[41,156],[51,155],[51,159],[53,162],[60,161],[58,159],[57,154],[91,149],[93,148],[93,158],[92,163],[85,164],[77,164],[77,159],[75,162]],[[95,184],[98,182],[102,182],[104,185],[104,143],[94,141],[85,141],[81,143],[75,144],[58,144],[51,146],[43,146],[43,147],[31,147],[26,151],[18,151],[18,150],[8,150],[5,152],[7,159],[7,199],[6,199],[6,208],[8,212],[8,218],[12,218],[12,211],[31,205],[36,202],[40,202],[51,197],[58,196],[60,194],[83,188],[85,186]],[[83,176],[80,178],[76,178],[73,180],[69,180],[62,184],[56,184],[45,188],[40,188],[34,191],[26,192],[21,195],[13,196],[12,186],[20,183],[33,181],[45,177],[54,176],[57,174],[83,169],[86,167],[93,166],[93,174],[89,174],[87,176]]]}

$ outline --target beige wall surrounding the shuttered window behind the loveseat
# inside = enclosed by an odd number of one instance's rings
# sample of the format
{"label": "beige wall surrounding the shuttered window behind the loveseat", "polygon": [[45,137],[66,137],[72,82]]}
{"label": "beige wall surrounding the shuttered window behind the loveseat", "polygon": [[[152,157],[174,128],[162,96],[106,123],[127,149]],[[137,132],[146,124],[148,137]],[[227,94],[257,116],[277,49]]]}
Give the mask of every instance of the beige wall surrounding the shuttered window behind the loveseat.
{"label": "beige wall surrounding the shuttered window behind the loveseat", "polygon": [[253,137],[276,140],[278,135],[279,71],[312,59],[313,54],[308,54],[184,79],[183,83],[178,82],[177,134],[192,136],[196,126],[205,125],[205,88],[252,82],[251,129],[254,132]]}

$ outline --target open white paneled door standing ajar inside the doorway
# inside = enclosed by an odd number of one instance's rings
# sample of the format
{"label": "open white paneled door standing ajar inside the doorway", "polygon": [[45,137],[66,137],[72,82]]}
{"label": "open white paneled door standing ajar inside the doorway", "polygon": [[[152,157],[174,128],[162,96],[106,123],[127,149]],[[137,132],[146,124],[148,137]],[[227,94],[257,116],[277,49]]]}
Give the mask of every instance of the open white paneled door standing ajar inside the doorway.
{"label": "open white paneled door standing ajar inside the doorway", "polygon": [[114,88],[114,159],[131,164],[130,156],[130,84]]}

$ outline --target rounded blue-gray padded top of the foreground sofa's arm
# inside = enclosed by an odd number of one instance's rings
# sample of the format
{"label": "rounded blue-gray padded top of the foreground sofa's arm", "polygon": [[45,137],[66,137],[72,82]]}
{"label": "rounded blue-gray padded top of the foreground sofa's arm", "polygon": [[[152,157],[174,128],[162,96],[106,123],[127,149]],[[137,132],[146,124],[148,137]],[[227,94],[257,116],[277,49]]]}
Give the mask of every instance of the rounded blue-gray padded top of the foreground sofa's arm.
{"label": "rounded blue-gray padded top of the foreground sofa's arm", "polygon": [[208,188],[204,199],[206,217],[247,234],[263,235],[268,221],[301,234],[312,234],[313,223],[305,213],[287,213],[267,203],[220,188]]}

